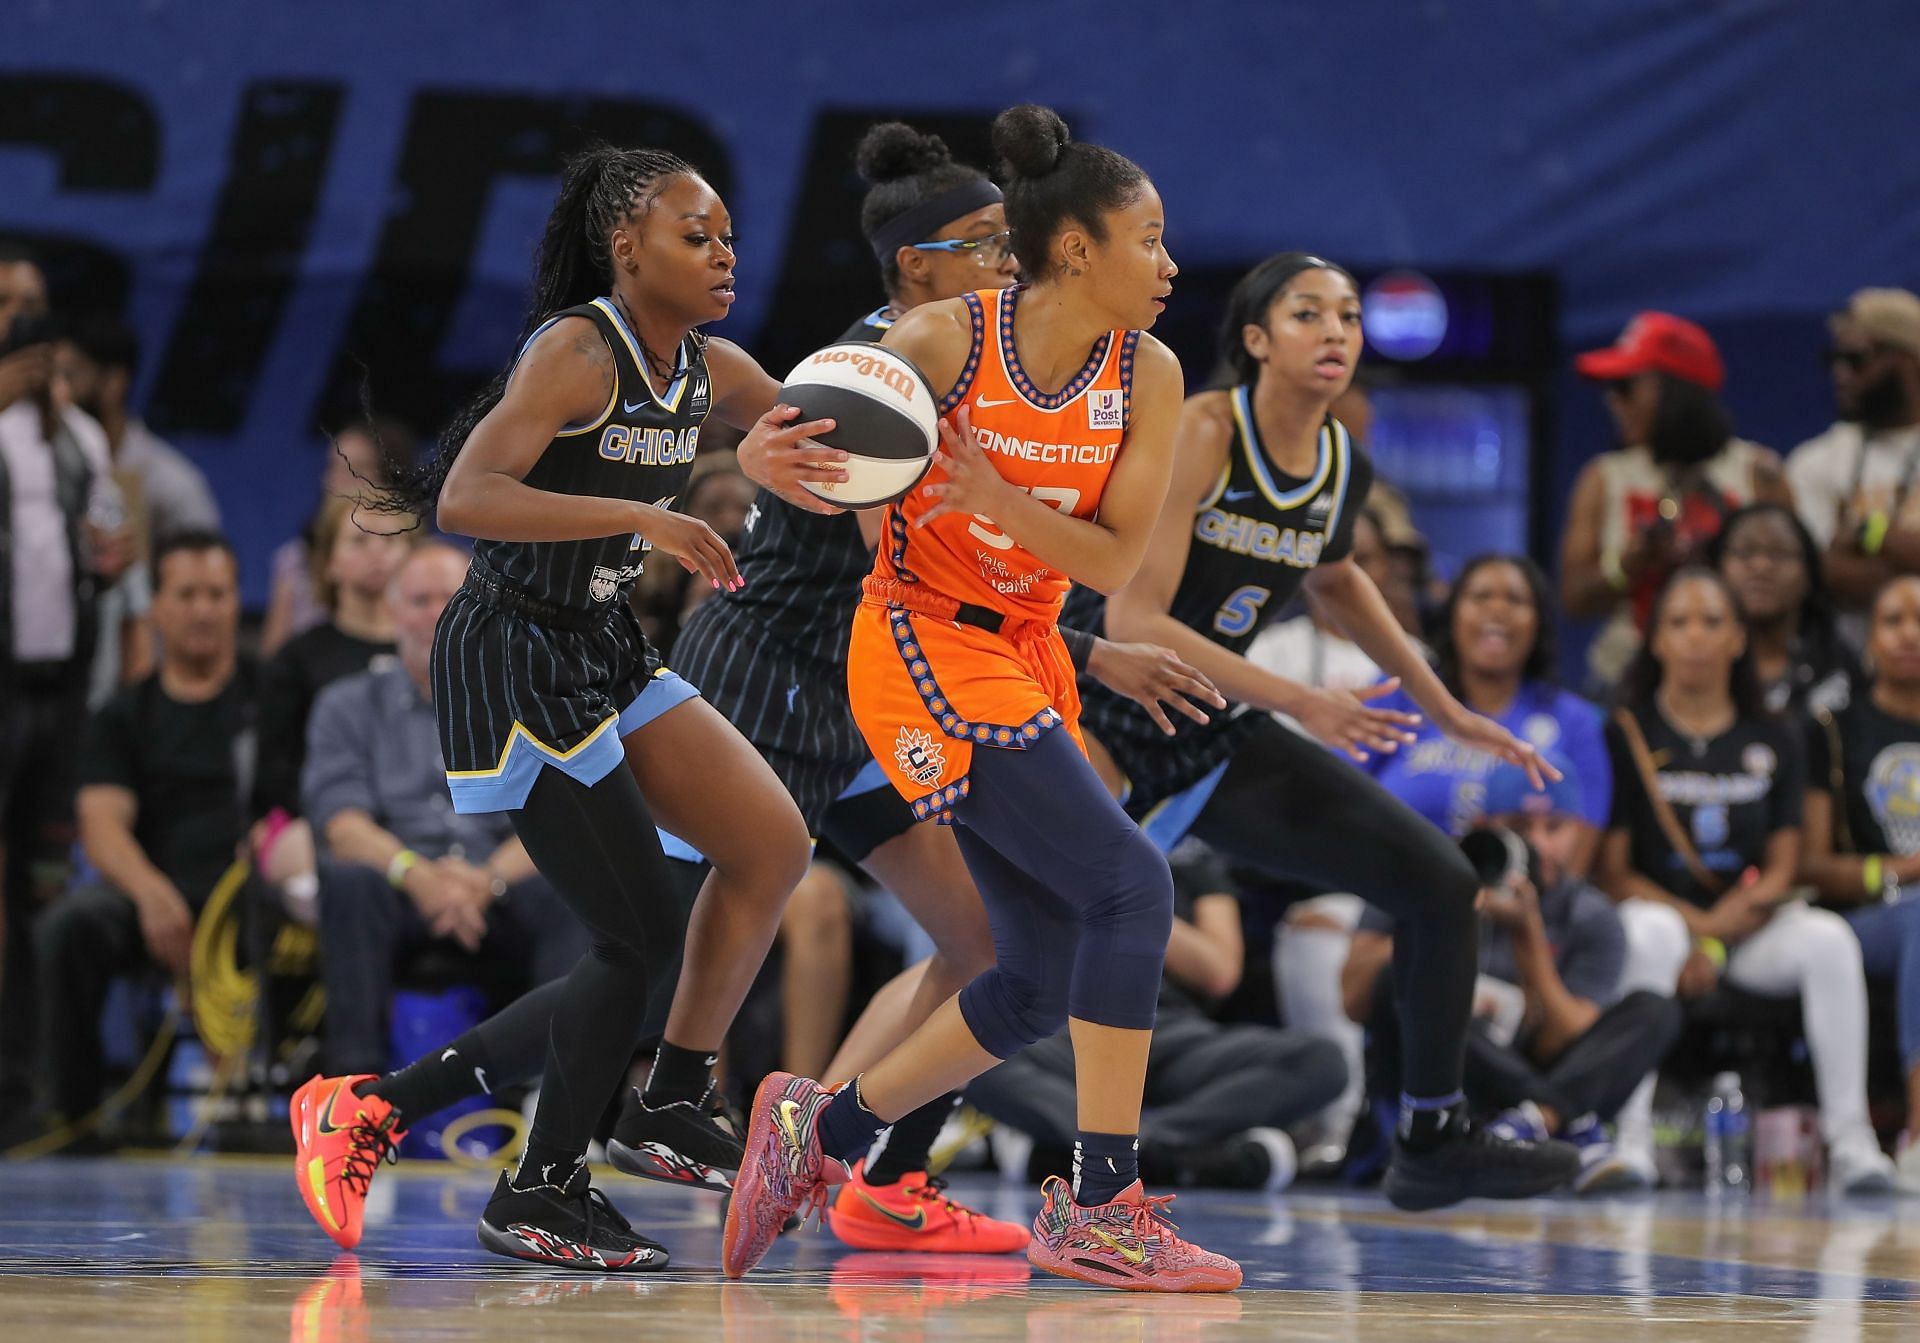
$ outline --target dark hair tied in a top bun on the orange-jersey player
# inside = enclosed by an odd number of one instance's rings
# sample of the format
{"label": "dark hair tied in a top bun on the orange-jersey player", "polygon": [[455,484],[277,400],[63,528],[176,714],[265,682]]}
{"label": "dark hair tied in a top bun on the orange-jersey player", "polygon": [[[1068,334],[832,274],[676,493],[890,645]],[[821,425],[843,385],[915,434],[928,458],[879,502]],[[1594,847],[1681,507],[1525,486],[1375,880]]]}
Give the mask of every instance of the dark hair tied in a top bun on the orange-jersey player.
{"label": "dark hair tied in a top bun on the orange-jersey player", "polygon": [[1052,269],[1054,238],[1069,223],[1106,242],[1106,213],[1140,194],[1146,173],[1123,154],[1085,144],[1052,108],[1021,104],[993,119],[993,148],[1006,183],[1006,227],[1029,281]]}

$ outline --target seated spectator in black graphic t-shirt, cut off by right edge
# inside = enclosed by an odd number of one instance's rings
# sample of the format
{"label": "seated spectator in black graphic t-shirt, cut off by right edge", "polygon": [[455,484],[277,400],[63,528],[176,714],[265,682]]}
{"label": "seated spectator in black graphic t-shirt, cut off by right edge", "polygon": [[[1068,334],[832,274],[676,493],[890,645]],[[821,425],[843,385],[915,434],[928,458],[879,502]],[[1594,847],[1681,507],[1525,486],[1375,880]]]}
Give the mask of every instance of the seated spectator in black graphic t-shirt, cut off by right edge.
{"label": "seated spectator in black graphic t-shirt, cut off by right edge", "polygon": [[1907,1064],[1903,1189],[1920,1193],[1920,576],[1874,603],[1870,688],[1807,732],[1801,880],[1860,940],[1870,980],[1891,980]]}

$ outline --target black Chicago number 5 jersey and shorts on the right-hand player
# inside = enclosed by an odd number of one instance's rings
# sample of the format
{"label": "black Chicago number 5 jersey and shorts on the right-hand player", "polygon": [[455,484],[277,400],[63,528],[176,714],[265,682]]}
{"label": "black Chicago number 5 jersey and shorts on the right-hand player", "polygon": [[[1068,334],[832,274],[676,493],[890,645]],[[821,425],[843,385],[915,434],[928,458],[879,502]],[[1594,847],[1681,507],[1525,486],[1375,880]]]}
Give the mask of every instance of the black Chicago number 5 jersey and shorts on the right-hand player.
{"label": "black Chicago number 5 jersey and shorts on the right-hand player", "polygon": [[[1227,465],[1194,509],[1187,569],[1169,615],[1235,653],[1244,653],[1300,592],[1315,565],[1354,549],[1354,519],[1373,488],[1373,463],[1331,415],[1321,425],[1313,473],[1288,476],[1260,444],[1244,386],[1231,394],[1233,442]],[[1102,632],[1106,601],[1089,588],[1068,598],[1062,624]],[[1133,780],[1129,809],[1198,782],[1233,753],[1236,736],[1227,713],[1200,726],[1173,715],[1165,736],[1146,711],[1092,678],[1081,678],[1081,724],[1114,753]]]}

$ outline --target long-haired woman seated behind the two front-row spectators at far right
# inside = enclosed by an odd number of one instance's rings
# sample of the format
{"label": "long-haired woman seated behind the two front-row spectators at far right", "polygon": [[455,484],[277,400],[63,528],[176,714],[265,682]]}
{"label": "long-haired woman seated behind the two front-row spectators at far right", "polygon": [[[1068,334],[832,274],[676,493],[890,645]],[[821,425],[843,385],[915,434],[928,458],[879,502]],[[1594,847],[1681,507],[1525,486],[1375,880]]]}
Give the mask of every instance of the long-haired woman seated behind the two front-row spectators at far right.
{"label": "long-haired woman seated behind the two front-row spectators at far right", "polygon": [[1820,551],[1784,503],[1749,503],[1707,548],[1741,611],[1753,674],[1770,713],[1832,713],[1847,703],[1860,661],[1839,638]]}

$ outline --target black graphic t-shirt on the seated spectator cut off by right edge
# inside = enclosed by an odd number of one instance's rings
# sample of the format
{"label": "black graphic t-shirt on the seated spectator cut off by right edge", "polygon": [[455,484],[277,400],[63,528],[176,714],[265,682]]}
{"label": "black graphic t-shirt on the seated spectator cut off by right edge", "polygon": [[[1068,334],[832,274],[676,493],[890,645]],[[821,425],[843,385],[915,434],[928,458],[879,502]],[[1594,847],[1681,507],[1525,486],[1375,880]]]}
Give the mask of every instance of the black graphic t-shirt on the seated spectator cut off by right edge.
{"label": "black graphic t-shirt on the seated spectator cut off by right edge", "polygon": [[1920,722],[1895,719],[1862,688],[1832,724],[1807,720],[1807,788],[1832,797],[1837,734],[1834,851],[1920,853]]}

